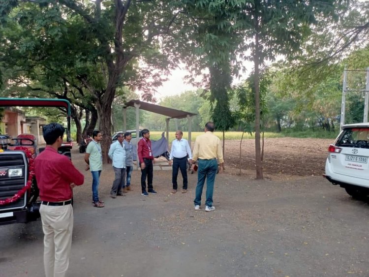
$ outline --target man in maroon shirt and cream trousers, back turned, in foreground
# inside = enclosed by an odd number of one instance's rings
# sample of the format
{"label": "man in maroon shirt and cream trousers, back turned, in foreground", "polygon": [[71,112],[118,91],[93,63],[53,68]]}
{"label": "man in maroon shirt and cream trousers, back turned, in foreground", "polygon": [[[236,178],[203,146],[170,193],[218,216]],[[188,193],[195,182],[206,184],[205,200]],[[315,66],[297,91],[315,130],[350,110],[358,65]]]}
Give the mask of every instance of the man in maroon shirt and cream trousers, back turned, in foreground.
{"label": "man in maroon shirt and cream trousers, back turned, in foreground", "polygon": [[44,267],[46,277],[64,277],[72,244],[72,188],[82,185],[85,177],[64,155],[64,127],[50,123],[43,127],[45,150],[35,159],[35,176],[42,200],[40,214],[44,232]]}

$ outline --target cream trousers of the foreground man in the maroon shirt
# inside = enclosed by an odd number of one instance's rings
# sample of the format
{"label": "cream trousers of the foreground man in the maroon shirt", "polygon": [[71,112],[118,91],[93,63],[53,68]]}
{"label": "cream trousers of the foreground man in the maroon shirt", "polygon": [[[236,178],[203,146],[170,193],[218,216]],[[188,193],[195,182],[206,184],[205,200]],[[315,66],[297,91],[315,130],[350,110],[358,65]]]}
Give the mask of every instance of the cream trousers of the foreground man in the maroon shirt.
{"label": "cream trousers of the foreground man in the maroon shirt", "polygon": [[69,266],[72,246],[72,205],[41,204],[40,214],[44,232],[44,267],[46,277],[64,277]]}

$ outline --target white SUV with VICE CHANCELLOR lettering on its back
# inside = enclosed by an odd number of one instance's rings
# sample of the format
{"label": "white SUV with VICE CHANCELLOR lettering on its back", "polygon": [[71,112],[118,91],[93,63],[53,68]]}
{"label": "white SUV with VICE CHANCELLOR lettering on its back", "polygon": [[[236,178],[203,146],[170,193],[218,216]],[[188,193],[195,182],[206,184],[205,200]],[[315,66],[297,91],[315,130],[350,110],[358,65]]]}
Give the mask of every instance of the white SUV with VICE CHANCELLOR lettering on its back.
{"label": "white SUV with VICE CHANCELLOR lettering on its back", "polygon": [[342,126],[334,144],[328,148],[323,175],[340,185],[354,198],[369,195],[369,123]]}

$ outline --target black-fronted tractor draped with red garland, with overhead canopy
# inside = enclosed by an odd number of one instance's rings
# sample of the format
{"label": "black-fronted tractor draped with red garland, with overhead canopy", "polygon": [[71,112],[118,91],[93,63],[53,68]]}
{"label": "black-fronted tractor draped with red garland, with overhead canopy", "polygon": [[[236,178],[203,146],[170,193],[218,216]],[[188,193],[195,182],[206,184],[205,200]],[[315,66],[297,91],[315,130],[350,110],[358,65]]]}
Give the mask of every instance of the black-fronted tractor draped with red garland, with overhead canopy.
{"label": "black-fronted tractor draped with red garland, with overhead canopy", "polygon": [[[63,99],[0,98],[0,107],[58,107],[67,115],[66,142],[59,153],[71,157],[70,103]],[[45,148],[39,148],[43,151]],[[34,177],[36,138],[20,134],[0,135],[0,225],[36,220],[40,202]],[[67,174],[67,173],[66,173]]]}

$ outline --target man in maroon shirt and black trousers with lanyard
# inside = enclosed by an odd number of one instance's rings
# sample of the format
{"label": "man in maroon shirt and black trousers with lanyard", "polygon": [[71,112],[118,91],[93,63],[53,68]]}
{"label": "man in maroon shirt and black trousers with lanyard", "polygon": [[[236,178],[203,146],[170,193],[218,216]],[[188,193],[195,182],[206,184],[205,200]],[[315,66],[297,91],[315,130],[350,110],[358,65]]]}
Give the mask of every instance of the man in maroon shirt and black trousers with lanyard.
{"label": "man in maroon shirt and black trousers with lanyard", "polygon": [[[153,187],[153,152],[151,150],[150,131],[143,129],[141,131],[143,138],[138,141],[137,154],[141,168],[141,189],[143,196],[149,196],[149,193],[156,193]],[[148,192],[146,191],[146,176]]]}

